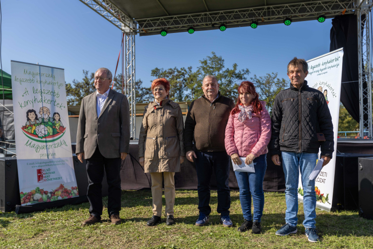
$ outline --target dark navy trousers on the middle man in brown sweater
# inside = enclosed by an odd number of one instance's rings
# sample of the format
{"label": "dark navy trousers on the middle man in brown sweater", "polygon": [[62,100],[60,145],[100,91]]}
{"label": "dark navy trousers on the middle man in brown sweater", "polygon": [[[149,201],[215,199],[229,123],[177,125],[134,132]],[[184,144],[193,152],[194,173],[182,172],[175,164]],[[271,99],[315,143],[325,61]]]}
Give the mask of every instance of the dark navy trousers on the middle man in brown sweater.
{"label": "dark navy trousers on the middle man in brown sweater", "polygon": [[196,151],[197,158],[195,166],[197,168],[198,179],[198,209],[200,214],[210,215],[210,181],[212,170],[215,173],[218,206],[217,212],[222,216],[229,215],[231,206],[231,195],[228,185],[230,156],[225,151]]}

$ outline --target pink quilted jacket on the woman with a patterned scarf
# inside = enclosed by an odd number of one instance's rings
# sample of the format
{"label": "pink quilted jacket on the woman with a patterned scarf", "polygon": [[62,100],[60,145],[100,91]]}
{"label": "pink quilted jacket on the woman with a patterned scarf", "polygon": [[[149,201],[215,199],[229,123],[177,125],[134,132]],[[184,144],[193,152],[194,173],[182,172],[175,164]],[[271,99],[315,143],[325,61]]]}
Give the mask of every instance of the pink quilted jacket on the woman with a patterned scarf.
{"label": "pink quilted jacket on the woman with a patterned scarf", "polygon": [[238,121],[239,113],[229,115],[225,128],[225,149],[228,155],[237,153],[246,157],[250,153],[258,157],[268,152],[267,145],[271,140],[271,117],[261,101],[263,110],[252,114],[244,122]]}

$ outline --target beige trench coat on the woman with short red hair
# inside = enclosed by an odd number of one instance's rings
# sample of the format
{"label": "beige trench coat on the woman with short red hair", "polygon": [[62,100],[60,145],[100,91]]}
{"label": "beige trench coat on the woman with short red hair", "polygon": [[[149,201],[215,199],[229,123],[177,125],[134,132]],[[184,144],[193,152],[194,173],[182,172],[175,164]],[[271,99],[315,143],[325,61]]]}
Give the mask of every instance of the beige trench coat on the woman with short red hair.
{"label": "beige trench coat on the woman with short red hair", "polygon": [[150,102],[139,137],[139,157],[145,157],[145,173],[180,172],[180,156],[185,156],[182,109],[170,99],[162,101],[162,106]]}

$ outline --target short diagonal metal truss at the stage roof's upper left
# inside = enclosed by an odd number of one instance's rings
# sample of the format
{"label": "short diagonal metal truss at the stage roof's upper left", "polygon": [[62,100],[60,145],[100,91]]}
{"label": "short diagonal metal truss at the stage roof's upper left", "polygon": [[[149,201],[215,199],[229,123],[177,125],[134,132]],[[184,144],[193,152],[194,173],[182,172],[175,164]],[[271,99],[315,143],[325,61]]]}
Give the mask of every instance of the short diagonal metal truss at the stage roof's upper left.
{"label": "short diagonal metal truss at the stage roof's upper left", "polygon": [[80,0],[93,11],[97,12],[103,18],[114,24],[119,29],[123,27],[131,31],[135,31],[132,23],[133,20],[122,10],[115,6],[110,0]]}

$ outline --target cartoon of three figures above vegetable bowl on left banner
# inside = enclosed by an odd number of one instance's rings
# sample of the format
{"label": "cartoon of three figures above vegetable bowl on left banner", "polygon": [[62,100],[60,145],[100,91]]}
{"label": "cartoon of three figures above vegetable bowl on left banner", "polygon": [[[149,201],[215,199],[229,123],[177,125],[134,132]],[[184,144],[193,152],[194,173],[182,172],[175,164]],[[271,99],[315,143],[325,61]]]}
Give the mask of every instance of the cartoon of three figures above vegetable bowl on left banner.
{"label": "cartoon of three figures above vegetable bowl on left banner", "polygon": [[35,138],[53,138],[58,139],[60,138],[65,130],[66,127],[62,124],[61,116],[59,113],[54,113],[53,118],[49,117],[51,112],[47,107],[41,107],[39,110],[40,118],[38,119],[38,115],[36,111],[31,109],[26,112],[26,124],[22,126],[23,133],[33,139],[34,141],[41,141]]}

